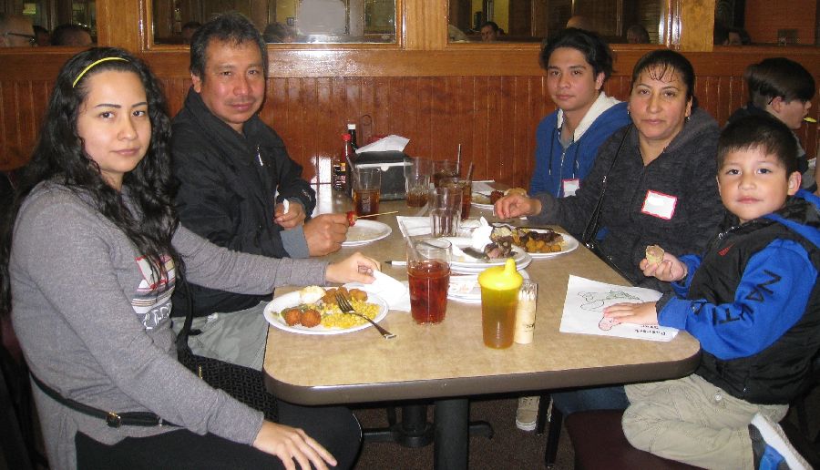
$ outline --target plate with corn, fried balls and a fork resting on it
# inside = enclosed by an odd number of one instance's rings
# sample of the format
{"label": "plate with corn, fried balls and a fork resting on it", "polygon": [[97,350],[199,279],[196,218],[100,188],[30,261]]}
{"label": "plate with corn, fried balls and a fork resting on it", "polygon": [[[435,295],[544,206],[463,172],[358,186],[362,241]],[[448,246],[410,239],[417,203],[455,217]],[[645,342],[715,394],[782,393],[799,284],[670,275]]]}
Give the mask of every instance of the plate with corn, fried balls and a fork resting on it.
{"label": "plate with corn, fried balls and a fork resting on it", "polygon": [[356,312],[374,322],[381,322],[387,315],[387,302],[372,292],[309,286],[270,301],[263,312],[265,320],[280,330],[299,334],[343,334],[370,328],[372,325],[363,318],[339,310],[337,292],[342,292]]}

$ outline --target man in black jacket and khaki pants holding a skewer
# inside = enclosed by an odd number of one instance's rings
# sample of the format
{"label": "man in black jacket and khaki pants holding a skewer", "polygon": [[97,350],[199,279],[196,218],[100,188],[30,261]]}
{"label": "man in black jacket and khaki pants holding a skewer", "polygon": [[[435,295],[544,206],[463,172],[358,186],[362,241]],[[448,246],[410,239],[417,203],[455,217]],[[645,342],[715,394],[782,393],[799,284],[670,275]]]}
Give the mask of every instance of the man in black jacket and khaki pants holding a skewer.
{"label": "man in black jacket and khaki pants holding a skewer", "polygon": [[[322,256],[339,250],[347,220],[344,214],[308,218],[315,193],[282,138],[257,116],[267,64],[259,31],[242,15],[221,15],[191,38],[193,85],[173,120],[179,218],[231,250]],[[261,369],[267,333],[261,312],[271,295],[196,285],[190,291],[189,305],[184,290],[177,290],[174,315],[192,309],[193,329],[201,331],[190,338],[193,352]]]}

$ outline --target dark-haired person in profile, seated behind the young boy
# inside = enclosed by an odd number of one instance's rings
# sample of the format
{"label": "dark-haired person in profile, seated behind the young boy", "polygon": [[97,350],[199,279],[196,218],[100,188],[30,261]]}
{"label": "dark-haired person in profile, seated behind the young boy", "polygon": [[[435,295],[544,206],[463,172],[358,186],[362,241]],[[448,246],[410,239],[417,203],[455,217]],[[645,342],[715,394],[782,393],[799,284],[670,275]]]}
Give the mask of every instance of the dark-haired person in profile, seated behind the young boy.
{"label": "dark-haired person in profile, seated behind the young boy", "polygon": [[[814,174],[808,171],[808,158],[794,131],[803,127],[815,97],[815,77],[798,62],[785,57],[771,57],[746,67],[743,74],[749,88],[749,103],[729,117],[733,122],[746,116],[771,115],[792,129],[797,143],[797,166],[805,188],[814,185]],[[812,189],[814,190],[814,189]]]}

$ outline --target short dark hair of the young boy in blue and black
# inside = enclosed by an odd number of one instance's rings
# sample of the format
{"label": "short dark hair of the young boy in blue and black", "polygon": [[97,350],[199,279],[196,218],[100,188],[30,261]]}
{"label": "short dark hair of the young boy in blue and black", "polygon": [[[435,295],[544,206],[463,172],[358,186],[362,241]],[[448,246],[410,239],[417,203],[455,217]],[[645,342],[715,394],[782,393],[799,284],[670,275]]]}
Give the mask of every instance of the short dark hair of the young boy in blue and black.
{"label": "short dark hair of the young boy in blue and black", "polygon": [[797,171],[797,141],[792,130],[772,116],[750,115],[730,122],[718,139],[717,166],[730,152],[759,148],[774,155],[786,169],[786,177]]}

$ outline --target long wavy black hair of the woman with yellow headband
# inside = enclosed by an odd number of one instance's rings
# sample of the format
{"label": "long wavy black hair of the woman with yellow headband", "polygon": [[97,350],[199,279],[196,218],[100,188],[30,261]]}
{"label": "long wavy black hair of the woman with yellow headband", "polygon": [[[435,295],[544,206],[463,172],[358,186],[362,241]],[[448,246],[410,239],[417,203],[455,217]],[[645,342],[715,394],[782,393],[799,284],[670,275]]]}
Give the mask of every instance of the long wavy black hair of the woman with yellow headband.
{"label": "long wavy black hair of the woman with yellow headband", "polygon": [[[87,66],[105,57],[125,60],[100,62],[80,77]],[[139,77],[145,87],[151,123],[148,151],[137,167],[123,177],[122,192],[103,179],[97,162],[87,155],[83,139],[77,135],[77,115],[88,95],[88,78],[107,70],[131,72]],[[77,80],[77,77],[80,78]],[[3,227],[0,314],[11,310],[8,259],[14,220],[20,204],[41,181],[51,180],[81,195],[82,200],[91,204],[136,245],[149,261],[156,279],[168,274],[161,261],[163,255],[169,255],[177,272],[182,273],[179,253],[171,245],[179,218],[172,203],[174,184],[170,172],[169,138],[170,121],[165,97],[157,78],[144,62],[115,47],[95,47],[68,60],[57,76],[36,148],[22,172],[15,205]],[[126,207],[123,193],[128,194],[134,213]]]}

